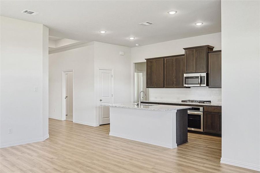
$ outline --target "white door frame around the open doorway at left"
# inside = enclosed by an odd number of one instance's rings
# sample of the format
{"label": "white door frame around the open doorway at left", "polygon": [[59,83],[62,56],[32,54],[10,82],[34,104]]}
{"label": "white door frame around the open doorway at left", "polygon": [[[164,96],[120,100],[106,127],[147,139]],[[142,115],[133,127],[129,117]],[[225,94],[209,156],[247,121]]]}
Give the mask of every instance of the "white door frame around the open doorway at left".
{"label": "white door frame around the open doorway at left", "polygon": [[66,97],[66,73],[67,72],[72,72],[72,94],[73,94],[73,115],[72,119],[74,122],[74,70],[69,69],[69,70],[62,70],[61,71],[61,120],[66,120],[66,100],[64,99]]}

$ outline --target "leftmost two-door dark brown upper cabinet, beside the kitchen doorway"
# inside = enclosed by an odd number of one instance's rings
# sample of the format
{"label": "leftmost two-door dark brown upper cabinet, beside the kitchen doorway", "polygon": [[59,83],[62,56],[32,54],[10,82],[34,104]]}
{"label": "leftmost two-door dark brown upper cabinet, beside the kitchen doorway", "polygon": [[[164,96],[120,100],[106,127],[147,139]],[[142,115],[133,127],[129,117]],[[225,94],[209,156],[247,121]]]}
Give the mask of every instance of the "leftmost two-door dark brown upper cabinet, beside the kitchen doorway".
{"label": "leftmost two-door dark brown upper cabinet, beside the kitchen doorway", "polygon": [[164,59],[146,59],[146,87],[164,87]]}

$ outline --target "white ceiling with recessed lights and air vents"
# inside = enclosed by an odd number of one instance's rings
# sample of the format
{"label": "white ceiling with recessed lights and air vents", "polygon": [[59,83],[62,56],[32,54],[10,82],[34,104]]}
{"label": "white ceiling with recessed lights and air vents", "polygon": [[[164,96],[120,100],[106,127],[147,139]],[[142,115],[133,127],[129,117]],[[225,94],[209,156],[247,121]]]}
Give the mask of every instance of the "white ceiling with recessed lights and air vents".
{"label": "white ceiling with recessed lights and air vents", "polygon": [[[36,16],[23,10],[39,12]],[[170,15],[167,12],[176,10]],[[134,47],[221,31],[220,0],[2,1],[1,16],[42,23],[49,35]],[[142,22],[154,25],[138,25]],[[194,25],[203,22],[203,25]],[[104,34],[99,31],[107,31]],[[135,37],[134,40],[128,37]]]}

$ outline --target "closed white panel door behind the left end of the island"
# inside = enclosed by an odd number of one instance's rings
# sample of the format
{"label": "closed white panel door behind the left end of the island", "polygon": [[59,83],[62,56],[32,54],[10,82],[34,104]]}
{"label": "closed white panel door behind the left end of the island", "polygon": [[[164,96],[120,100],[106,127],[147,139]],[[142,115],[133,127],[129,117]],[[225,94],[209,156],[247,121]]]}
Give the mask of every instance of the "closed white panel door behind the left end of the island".
{"label": "closed white panel door behind the left end of the island", "polygon": [[[113,80],[112,75],[113,71],[99,69],[98,76],[98,89],[99,89],[99,104],[112,104],[113,102]],[[109,124],[109,107],[107,106],[99,106],[99,124]]]}

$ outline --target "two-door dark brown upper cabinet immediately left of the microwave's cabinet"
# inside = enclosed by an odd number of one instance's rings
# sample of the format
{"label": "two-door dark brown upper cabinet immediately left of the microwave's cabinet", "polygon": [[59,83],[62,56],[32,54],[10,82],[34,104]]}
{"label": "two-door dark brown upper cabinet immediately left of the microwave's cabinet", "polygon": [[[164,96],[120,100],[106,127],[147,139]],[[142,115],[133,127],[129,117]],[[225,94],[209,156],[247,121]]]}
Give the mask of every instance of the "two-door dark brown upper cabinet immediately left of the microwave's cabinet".
{"label": "two-door dark brown upper cabinet immediately left of the microwave's cabinet", "polygon": [[184,88],[184,54],[164,58],[164,88]]}

